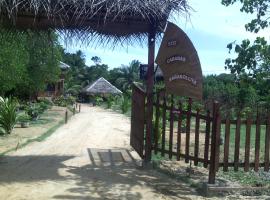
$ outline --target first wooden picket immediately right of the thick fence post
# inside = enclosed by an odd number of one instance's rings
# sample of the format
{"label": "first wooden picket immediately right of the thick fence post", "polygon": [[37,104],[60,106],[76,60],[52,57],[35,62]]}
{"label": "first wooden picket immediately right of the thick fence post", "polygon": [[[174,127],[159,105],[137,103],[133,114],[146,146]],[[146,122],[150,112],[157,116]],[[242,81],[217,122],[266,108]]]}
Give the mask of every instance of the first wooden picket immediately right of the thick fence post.
{"label": "first wooden picket immediately right of the thick fence post", "polygon": [[230,152],[230,130],[231,130],[230,114],[228,114],[225,123],[224,166],[223,166],[224,172],[228,171],[229,152]]}

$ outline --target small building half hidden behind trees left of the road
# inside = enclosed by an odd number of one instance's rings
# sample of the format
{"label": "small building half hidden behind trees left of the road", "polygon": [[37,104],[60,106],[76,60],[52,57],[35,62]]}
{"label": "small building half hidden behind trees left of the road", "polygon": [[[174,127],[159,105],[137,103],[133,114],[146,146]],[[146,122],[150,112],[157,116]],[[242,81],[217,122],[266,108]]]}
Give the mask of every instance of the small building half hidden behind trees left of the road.
{"label": "small building half hidden behind trees left of the road", "polygon": [[45,91],[38,93],[39,98],[55,98],[64,94],[65,73],[70,66],[60,61],[59,67],[61,69],[59,80],[55,83],[48,83]]}

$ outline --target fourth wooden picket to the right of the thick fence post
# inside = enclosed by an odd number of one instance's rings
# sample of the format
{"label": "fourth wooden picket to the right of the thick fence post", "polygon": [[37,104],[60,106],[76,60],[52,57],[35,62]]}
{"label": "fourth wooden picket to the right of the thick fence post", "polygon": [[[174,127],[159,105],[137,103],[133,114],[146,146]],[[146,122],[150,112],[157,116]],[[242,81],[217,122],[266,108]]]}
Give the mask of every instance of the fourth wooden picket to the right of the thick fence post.
{"label": "fourth wooden picket to the right of the thick fence post", "polygon": [[260,139],[261,139],[261,122],[260,122],[260,115],[259,112],[257,113],[257,123],[256,123],[256,138],[255,138],[255,167],[254,171],[259,171],[259,164],[260,164]]}

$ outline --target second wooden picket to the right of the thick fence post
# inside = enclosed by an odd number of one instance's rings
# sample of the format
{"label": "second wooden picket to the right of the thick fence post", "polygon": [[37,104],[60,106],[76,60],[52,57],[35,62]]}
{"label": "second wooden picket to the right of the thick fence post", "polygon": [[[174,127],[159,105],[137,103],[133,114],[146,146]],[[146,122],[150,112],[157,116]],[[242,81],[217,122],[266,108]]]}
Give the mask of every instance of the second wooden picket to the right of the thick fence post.
{"label": "second wooden picket to the right of the thick fence post", "polygon": [[237,122],[236,122],[236,131],[235,131],[234,171],[238,171],[238,167],[239,167],[240,131],[241,131],[241,118],[240,118],[240,115],[238,115]]}

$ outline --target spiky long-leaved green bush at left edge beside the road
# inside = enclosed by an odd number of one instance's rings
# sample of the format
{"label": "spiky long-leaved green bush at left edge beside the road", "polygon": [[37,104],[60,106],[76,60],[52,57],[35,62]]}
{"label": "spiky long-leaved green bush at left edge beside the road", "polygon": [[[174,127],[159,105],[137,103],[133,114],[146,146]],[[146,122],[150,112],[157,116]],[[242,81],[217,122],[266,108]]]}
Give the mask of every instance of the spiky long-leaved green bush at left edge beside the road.
{"label": "spiky long-leaved green bush at left edge beside the road", "polygon": [[11,98],[0,97],[0,132],[11,134],[18,121],[17,101]]}

